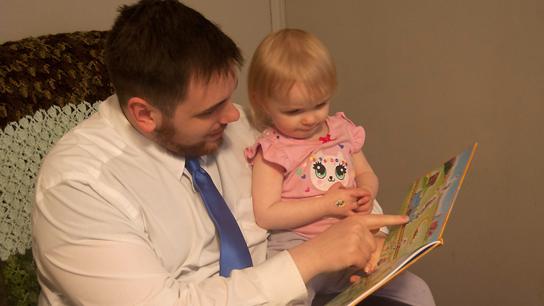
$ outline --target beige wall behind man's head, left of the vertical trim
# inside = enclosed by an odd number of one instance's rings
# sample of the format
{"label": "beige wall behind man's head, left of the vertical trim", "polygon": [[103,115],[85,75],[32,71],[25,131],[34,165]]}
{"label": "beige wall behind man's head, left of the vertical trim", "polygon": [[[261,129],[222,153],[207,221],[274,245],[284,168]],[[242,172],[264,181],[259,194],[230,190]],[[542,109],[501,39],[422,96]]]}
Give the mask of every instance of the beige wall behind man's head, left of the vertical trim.
{"label": "beige wall behind man's head, left of the vertical trim", "polygon": [[[0,43],[28,36],[62,32],[106,30],[113,25],[118,6],[136,0],[2,0],[0,1]],[[261,39],[271,29],[270,1],[267,0],[184,0],[220,25],[234,39],[249,63]],[[247,67],[248,65],[246,65]],[[232,101],[249,106],[246,68]]]}

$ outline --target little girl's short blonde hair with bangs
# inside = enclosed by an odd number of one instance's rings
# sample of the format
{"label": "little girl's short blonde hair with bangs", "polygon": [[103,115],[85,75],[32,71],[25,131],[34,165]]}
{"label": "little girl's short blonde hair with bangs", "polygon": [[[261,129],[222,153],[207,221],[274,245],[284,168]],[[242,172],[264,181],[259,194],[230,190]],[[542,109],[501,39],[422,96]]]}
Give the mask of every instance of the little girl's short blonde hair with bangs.
{"label": "little girl's short blonde hair with bangs", "polygon": [[286,96],[299,82],[312,97],[331,95],[337,86],[332,55],[308,32],[272,32],[260,43],[249,65],[247,87],[253,125],[259,130],[272,125],[266,103],[278,94]]}

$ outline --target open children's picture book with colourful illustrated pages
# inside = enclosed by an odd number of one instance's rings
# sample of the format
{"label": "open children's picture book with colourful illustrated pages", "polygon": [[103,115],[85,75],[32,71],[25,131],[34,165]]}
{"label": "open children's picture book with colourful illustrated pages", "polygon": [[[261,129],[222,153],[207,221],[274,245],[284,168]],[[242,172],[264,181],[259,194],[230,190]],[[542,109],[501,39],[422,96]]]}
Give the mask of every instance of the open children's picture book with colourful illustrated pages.
{"label": "open children's picture book with colourful illustrated pages", "polygon": [[398,212],[410,216],[410,221],[393,225],[372,274],[361,278],[326,306],[356,305],[428,251],[443,244],[442,231],[476,145],[412,183]]}

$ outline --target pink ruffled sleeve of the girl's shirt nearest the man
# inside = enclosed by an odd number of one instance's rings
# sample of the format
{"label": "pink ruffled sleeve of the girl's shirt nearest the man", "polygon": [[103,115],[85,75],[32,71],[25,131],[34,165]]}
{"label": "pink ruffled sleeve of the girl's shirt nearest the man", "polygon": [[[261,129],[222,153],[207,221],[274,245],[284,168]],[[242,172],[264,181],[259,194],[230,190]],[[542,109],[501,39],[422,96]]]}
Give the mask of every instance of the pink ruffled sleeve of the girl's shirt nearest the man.
{"label": "pink ruffled sleeve of the girl's shirt nearest the man", "polygon": [[291,169],[291,158],[289,158],[288,154],[286,153],[284,145],[281,143],[281,141],[277,141],[277,139],[270,137],[270,132],[271,131],[268,129],[265,130],[257,139],[255,144],[253,144],[253,146],[246,147],[246,150],[244,151],[246,161],[253,165],[255,155],[257,155],[257,152],[261,150],[263,151],[263,158],[265,158],[265,160],[274,162],[285,169]]}

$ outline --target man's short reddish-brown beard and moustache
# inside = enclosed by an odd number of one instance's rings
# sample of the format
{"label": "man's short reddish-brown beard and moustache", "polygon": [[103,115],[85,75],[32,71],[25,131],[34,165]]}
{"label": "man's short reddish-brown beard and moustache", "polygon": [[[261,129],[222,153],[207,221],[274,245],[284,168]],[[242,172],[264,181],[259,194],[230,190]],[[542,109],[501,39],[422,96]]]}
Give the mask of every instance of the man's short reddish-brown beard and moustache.
{"label": "man's short reddish-brown beard and moustache", "polygon": [[[211,131],[207,136],[217,134],[226,128],[227,125],[223,124],[218,130]],[[214,154],[223,144],[223,135],[211,143],[206,142],[206,139],[202,139],[202,141],[196,144],[186,145],[186,143],[192,140],[190,137],[184,139],[177,137],[176,128],[170,119],[165,120],[162,127],[155,129],[155,142],[159,146],[162,146],[162,148],[165,148],[168,153],[179,157],[197,157]]]}

